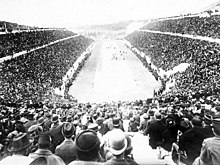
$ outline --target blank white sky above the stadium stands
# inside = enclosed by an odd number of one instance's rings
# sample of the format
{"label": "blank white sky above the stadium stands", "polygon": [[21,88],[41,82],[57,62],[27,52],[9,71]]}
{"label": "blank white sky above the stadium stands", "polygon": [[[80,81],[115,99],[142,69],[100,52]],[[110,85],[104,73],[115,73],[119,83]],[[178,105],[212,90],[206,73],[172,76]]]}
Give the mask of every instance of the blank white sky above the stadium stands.
{"label": "blank white sky above the stadium stands", "polygon": [[217,0],[1,0],[0,20],[75,27],[190,13]]}

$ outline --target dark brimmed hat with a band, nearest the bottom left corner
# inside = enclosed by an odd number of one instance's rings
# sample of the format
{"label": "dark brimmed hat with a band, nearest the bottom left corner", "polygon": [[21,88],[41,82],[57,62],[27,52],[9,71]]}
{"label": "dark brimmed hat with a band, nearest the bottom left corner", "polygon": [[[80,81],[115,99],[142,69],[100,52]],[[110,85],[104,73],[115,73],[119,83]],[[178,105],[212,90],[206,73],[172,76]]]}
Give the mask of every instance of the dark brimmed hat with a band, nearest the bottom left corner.
{"label": "dark brimmed hat with a band, nearest the bottom left corner", "polygon": [[8,147],[8,151],[15,152],[23,150],[32,144],[32,140],[29,140],[26,133],[19,134],[15,136],[12,143]]}

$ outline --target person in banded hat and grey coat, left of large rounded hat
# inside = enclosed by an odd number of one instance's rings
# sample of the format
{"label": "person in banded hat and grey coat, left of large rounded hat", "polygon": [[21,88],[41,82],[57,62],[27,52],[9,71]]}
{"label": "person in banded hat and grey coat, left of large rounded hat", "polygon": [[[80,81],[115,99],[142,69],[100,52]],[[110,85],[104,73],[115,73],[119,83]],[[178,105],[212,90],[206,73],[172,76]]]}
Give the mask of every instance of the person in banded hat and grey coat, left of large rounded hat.
{"label": "person in banded hat and grey coat, left of large rounded hat", "polygon": [[55,154],[63,159],[65,164],[76,160],[76,145],[73,141],[75,127],[72,123],[64,123],[62,133],[65,140],[56,147]]}

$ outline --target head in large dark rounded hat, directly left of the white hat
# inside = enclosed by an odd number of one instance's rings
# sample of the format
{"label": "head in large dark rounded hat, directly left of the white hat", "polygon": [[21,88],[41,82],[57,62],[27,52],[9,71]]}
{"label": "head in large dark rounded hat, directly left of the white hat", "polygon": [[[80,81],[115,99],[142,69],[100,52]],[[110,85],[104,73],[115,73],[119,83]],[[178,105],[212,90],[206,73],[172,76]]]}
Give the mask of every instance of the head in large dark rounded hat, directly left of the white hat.
{"label": "head in large dark rounded hat, directly left of the white hat", "polygon": [[96,132],[85,130],[77,135],[76,156],[78,160],[96,161],[99,158],[100,140]]}

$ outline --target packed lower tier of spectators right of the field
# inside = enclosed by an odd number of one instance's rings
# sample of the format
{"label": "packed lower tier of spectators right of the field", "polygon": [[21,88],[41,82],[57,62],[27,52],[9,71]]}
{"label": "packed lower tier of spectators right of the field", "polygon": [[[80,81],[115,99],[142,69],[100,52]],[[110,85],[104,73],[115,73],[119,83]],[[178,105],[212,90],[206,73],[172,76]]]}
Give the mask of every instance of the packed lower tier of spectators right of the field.
{"label": "packed lower tier of spectators right of the field", "polygon": [[218,44],[148,32],[135,32],[128,36],[127,40],[149,55],[156,67],[165,71],[181,63],[190,64],[185,72],[178,72],[170,77],[176,80],[175,90],[172,92],[192,93],[199,90],[213,94],[220,92]]}

